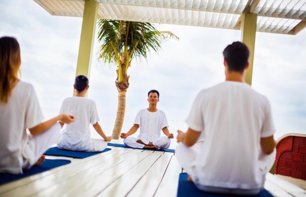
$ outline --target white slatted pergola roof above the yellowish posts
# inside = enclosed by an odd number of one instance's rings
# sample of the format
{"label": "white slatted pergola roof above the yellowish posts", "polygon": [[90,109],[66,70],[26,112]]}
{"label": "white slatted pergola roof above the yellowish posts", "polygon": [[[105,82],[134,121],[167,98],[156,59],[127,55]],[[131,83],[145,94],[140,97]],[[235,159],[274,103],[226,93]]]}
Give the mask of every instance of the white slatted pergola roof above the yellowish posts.
{"label": "white slatted pergola roof above the yellowish posts", "polygon": [[[52,15],[82,17],[85,0],[35,0]],[[241,14],[258,14],[257,31],[297,34],[306,0],[96,0],[98,18],[240,29]]]}

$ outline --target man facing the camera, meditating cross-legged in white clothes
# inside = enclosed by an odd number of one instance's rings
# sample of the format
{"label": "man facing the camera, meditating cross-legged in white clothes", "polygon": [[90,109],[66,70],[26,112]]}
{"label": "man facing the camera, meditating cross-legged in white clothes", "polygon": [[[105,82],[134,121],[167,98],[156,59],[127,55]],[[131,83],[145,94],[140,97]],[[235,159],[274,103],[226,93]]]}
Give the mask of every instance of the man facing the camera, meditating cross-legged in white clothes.
{"label": "man facing the camera, meditating cross-legged in white clothes", "polygon": [[[149,108],[142,109],[138,112],[134,125],[131,129],[120,137],[123,138],[125,146],[132,148],[149,148],[149,149],[167,149],[170,146],[173,133],[168,130],[168,122],[165,112],[156,108],[159,101],[157,90],[151,90],[148,93]],[[140,128],[138,138],[129,137]],[[166,136],[160,137],[160,130]]]}

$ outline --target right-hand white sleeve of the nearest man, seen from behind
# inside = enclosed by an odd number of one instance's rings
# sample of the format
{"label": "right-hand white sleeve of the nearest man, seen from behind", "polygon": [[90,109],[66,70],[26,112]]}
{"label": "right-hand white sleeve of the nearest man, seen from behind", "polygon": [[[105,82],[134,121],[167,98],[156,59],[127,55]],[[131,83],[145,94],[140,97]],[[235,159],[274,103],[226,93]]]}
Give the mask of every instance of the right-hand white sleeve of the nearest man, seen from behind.
{"label": "right-hand white sleeve of the nearest man, seen from behind", "polygon": [[265,120],[261,131],[261,137],[269,137],[273,135],[275,132],[273,119],[272,119],[272,112],[271,112],[271,106],[267,99],[266,101],[266,107],[265,107]]}

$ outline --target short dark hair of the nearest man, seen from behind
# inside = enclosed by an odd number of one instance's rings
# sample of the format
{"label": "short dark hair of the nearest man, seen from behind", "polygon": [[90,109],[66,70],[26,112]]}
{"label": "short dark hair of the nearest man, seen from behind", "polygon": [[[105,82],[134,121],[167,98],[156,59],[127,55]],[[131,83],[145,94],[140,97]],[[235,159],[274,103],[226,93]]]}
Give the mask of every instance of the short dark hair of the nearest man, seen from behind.
{"label": "short dark hair of the nearest man, seen from behind", "polygon": [[228,63],[229,71],[243,72],[248,63],[250,51],[242,42],[233,42],[223,51],[223,57]]}

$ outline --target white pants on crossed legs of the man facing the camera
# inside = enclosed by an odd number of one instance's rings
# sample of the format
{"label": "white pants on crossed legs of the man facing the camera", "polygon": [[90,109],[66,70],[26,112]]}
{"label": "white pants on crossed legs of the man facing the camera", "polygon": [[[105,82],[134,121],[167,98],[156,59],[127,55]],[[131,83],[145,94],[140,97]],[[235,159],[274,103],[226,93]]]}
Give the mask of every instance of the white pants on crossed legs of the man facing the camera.
{"label": "white pants on crossed legs of the man facing the camera", "polygon": [[[136,142],[137,138],[135,137],[127,137],[123,139],[123,143],[125,146],[132,148],[143,148],[145,145]],[[159,149],[167,149],[170,146],[171,139],[169,137],[158,137],[153,140],[153,145],[157,146]]]}

